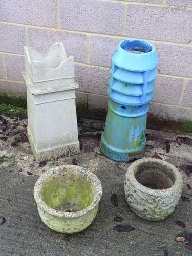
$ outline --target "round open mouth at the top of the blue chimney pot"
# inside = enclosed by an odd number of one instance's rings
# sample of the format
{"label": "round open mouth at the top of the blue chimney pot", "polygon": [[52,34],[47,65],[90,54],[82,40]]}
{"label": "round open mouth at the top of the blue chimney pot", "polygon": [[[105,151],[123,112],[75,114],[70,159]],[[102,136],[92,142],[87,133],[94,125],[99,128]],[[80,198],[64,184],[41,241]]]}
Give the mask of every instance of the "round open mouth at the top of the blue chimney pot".
{"label": "round open mouth at the top of the blue chimney pot", "polygon": [[152,45],[145,41],[123,41],[121,44],[121,48],[125,51],[130,51],[132,53],[147,53],[152,51]]}

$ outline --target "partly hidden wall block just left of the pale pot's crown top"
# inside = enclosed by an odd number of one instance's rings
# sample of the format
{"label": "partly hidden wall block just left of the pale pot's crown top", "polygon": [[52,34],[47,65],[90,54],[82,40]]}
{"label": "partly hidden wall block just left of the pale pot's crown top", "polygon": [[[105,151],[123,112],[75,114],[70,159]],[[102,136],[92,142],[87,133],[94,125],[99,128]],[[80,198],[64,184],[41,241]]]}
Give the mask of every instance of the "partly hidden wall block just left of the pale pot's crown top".
{"label": "partly hidden wall block just left of the pale pot's crown top", "polygon": [[25,69],[25,57],[17,55],[5,55],[7,78],[24,82],[22,71]]}

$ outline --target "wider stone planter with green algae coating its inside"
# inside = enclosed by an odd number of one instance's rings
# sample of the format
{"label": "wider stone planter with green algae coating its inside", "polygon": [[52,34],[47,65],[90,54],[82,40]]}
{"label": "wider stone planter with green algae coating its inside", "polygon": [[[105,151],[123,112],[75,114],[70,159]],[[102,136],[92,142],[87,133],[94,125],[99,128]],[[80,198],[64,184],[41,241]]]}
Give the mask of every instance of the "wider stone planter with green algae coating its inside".
{"label": "wider stone planter with green algae coating its inside", "polygon": [[97,176],[76,165],[55,167],[44,173],[34,187],[41,220],[61,233],[77,233],[95,219],[102,186]]}

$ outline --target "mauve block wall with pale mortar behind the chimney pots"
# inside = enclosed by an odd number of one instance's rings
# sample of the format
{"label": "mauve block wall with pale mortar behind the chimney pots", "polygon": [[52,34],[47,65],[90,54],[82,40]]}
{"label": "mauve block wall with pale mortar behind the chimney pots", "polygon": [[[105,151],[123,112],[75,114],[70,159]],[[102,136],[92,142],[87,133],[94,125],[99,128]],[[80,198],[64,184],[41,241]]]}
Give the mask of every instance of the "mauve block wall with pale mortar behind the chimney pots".
{"label": "mauve block wall with pale mortar behind the chimney pots", "polygon": [[160,60],[151,116],[191,124],[192,0],[9,0],[0,20],[1,95],[26,97],[24,45],[47,51],[62,41],[75,58],[78,111],[104,119],[111,55],[119,41],[141,38]]}

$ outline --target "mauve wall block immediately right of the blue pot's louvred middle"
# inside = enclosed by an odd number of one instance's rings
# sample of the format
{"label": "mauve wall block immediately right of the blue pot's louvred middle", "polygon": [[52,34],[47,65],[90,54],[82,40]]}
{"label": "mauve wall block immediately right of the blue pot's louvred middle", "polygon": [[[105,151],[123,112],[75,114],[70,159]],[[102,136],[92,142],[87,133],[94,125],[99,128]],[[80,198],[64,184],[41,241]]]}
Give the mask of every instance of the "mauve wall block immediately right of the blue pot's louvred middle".
{"label": "mauve wall block immediately right of the blue pot's louvred middle", "polygon": [[183,79],[158,76],[155,81],[153,101],[166,104],[179,104]]}

